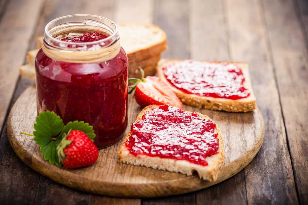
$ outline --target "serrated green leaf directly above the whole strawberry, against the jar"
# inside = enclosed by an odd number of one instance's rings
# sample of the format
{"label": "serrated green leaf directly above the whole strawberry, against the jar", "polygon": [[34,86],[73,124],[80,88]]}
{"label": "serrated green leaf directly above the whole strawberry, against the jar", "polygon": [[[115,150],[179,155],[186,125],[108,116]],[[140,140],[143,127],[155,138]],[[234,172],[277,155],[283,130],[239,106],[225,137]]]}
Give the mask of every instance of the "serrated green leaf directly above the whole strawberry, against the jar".
{"label": "serrated green leaf directly above the whole strawberry, against the jar", "polygon": [[80,122],[74,121],[74,122],[67,123],[63,127],[57,140],[62,140],[63,134],[67,134],[70,130],[80,130],[86,133],[86,135],[88,135],[88,137],[92,140],[92,142],[93,142],[93,139],[95,138],[93,126],[89,125],[89,123],[84,123],[83,121],[80,121]]}

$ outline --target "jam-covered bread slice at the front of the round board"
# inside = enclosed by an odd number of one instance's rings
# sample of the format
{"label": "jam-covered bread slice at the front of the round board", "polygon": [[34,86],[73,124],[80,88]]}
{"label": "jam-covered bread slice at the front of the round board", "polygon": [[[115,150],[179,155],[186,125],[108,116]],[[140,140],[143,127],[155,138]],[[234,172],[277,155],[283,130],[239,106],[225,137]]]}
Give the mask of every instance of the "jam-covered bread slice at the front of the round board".
{"label": "jam-covered bread slice at the front of the round board", "polygon": [[[169,112],[166,117],[164,111]],[[186,175],[197,172],[212,182],[224,165],[225,154],[221,133],[208,116],[165,104],[150,105],[139,113],[118,159],[120,163]]]}

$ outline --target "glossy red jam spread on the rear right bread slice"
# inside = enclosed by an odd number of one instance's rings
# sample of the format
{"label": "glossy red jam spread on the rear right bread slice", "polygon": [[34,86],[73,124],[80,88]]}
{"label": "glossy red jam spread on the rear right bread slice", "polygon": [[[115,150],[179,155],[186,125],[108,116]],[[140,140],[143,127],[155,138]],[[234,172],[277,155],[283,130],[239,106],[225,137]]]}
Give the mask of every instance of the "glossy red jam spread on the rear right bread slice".
{"label": "glossy red jam spread on the rear right bread slice", "polygon": [[184,93],[232,100],[250,95],[241,68],[231,63],[183,61],[169,64],[163,72]]}

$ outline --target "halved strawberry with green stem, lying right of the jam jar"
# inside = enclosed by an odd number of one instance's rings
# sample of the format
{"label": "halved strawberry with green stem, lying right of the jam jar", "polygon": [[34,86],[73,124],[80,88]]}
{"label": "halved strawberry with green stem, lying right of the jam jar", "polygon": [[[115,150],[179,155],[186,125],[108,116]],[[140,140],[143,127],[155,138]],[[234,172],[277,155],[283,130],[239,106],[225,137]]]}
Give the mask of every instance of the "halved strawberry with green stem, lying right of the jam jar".
{"label": "halved strawberry with green stem, lying right of the jam jar", "polygon": [[142,74],[142,78],[129,78],[130,82],[134,83],[134,86],[128,93],[136,88],[135,99],[141,107],[148,105],[163,105],[169,104],[178,108],[182,108],[183,104],[176,94],[168,87],[163,81],[156,76],[148,76],[144,78],[144,72],[139,67]]}

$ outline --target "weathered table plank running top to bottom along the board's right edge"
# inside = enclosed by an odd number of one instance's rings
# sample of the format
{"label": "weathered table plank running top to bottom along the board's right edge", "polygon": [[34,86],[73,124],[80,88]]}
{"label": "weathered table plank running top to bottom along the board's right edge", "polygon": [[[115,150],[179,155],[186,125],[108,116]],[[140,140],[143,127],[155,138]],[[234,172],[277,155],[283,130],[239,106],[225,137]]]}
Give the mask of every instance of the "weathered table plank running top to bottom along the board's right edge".
{"label": "weathered table plank running top to bottom along the board's right edge", "polygon": [[[285,15],[282,9],[269,6],[265,8],[269,13]],[[257,1],[228,0],[226,11],[231,59],[249,63],[257,104],[267,125],[261,150],[256,159],[245,168],[247,202],[295,204],[297,197],[292,167],[260,5]],[[273,18],[273,23],[277,19],[278,17]],[[278,36],[281,33],[276,33],[275,38]]]}

